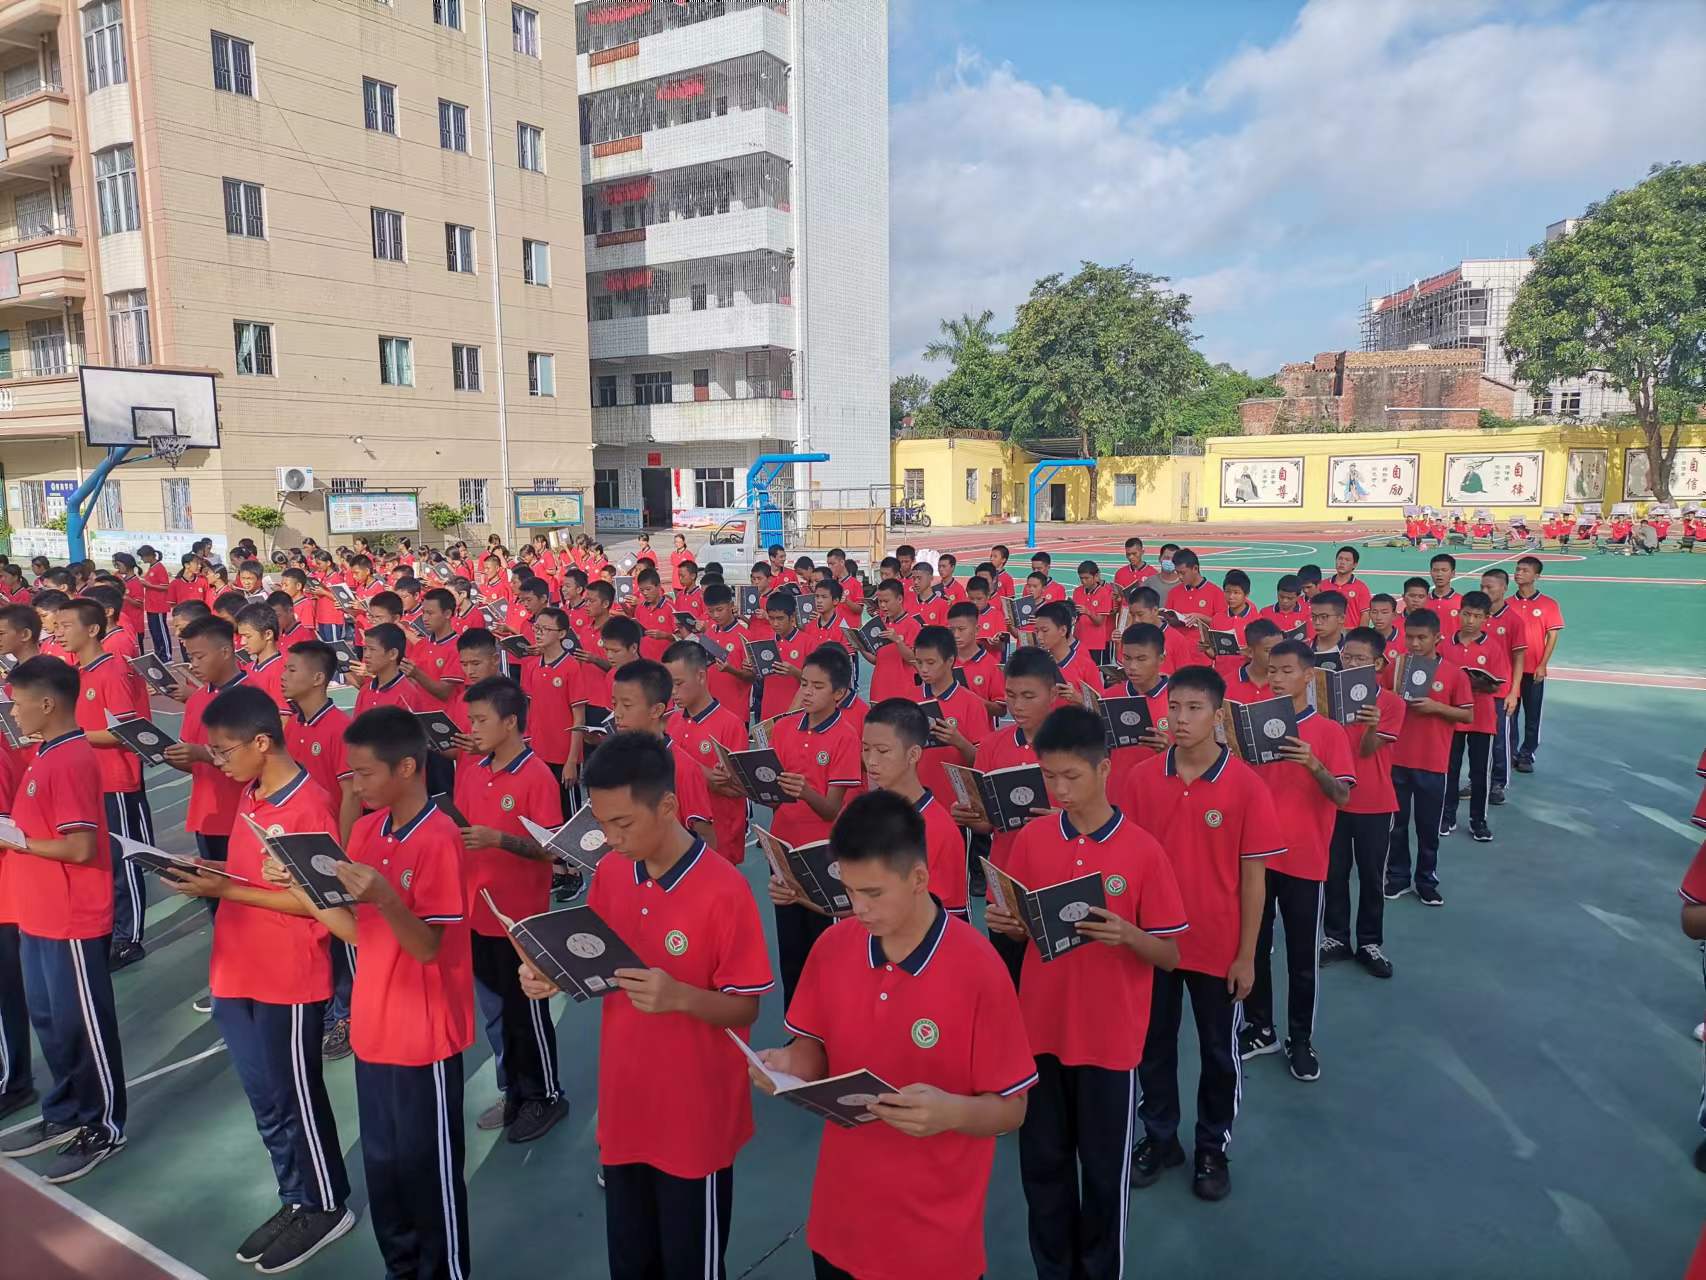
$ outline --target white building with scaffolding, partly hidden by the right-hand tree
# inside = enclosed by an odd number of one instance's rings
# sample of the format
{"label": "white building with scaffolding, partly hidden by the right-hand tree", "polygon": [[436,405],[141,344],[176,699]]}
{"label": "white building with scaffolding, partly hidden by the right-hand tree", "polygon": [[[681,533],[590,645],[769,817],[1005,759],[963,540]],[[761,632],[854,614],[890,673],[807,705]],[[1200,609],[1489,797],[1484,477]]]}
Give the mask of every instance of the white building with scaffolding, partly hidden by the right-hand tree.
{"label": "white building with scaffolding, partly hidden by the right-hand tree", "polygon": [[[1575,225],[1573,218],[1554,222],[1546,239],[1568,236]],[[1484,375],[1513,389],[1518,418],[1599,422],[1631,413],[1629,398],[1602,377],[1564,379],[1541,396],[1517,381],[1505,355],[1505,321],[1517,287],[1532,270],[1529,258],[1472,258],[1409,288],[1370,299],[1361,316],[1363,350],[1474,348],[1481,352]]]}

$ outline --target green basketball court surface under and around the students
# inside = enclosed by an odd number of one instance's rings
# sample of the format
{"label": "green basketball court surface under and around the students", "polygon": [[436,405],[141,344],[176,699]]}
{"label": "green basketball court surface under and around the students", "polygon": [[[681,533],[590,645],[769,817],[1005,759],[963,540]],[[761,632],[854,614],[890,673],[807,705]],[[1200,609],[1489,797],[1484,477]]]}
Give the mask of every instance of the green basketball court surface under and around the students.
{"label": "green basketball court surface under and around the students", "polygon": [[[935,531],[969,572],[1007,531]],[[1056,575],[1078,560],[1121,563],[1123,532],[1053,526]],[[899,541],[899,536],[896,538]],[[1020,539],[1013,570],[1025,567]],[[1152,558],[1160,536],[1150,539]],[[1256,599],[1303,561],[1331,570],[1339,541],[1286,534],[1194,538],[1211,579],[1252,573]],[[1457,551],[1467,589],[1481,567],[1520,553]],[[1375,591],[1426,573],[1426,553],[1367,550]],[[1442,841],[1443,910],[1387,905],[1392,981],[1356,966],[1322,973],[1315,1044],[1322,1077],[1297,1084],[1280,1056],[1247,1063],[1230,1150],[1233,1191],[1191,1196],[1184,1171],[1133,1193],[1133,1275],[1257,1277],[1679,1277],[1701,1231],[1706,1174],[1692,1152],[1706,1010],[1701,957],[1677,928],[1677,882],[1701,831],[1689,812],[1706,746],[1706,555],[1547,558],[1544,589],[1568,628],[1547,683],[1537,771],[1491,811],[1496,838]],[[164,841],[186,848],[184,785],[155,771]],[[763,860],[742,864],[764,901]],[[246,1271],[232,1251],[275,1208],[266,1154],[208,1017],[208,923],[200,903],[159,889],[148,957],[114,976],[130,1092],[130,1145],[67,1188],[186,1271]],[[768,910],[763,911],[768,920]],[[1276,964],[1283,985],[1283,963]],[[781,1043],[781,1002],[766,997],[756,1044]],[[467,1184],[476,1275],[606,1275],[594,1181],[595,1005],[558,1010],[572,1116],[515,1147],[474,1130],[495,1097],[483,1039],[467,1053]],[[1182,1094],[1192,1120],[1189,1019]],[[682,1063],[655,1063],[643,1091]],[[38,1084],[46,1084],[38,1058]],[[339,1137],[365,1210],[351,1063],[328,1063]],[[754,1097],[757,1137],[735,1166],[730,1277],[804,1277],[804,1222],[817,1125]],[[22,1120],[24,1116],[14,1118]],[[19,1200],[19,1196],[26,1200]],[[29,1193],[0,1184],[0,1222],[44,1222]],[[1000,1142],[989,1188],[988,1275],[1032,1275],[1017,1145]],[[82,1225],[75,1231],[94,1232]],[[872,1217],[872,1232],[882,1232]],[[3,1248],[3,1246],[0,1246]],[[94,1256],[94,1254],[90,1254]],[[136,1275],[78,1266],[51,1275]],[[15,1261],[15,1260],[14,1260]],[[148,1266],[155,1263],[147,1263]],[[382,1275],[363,1220],[297,1271]],[[32,1268],[34,1271],[34,1268]],[[7,1265],[0,1263],[0,1273]],[[184,1271],[179,1271],[184,1273]]]}

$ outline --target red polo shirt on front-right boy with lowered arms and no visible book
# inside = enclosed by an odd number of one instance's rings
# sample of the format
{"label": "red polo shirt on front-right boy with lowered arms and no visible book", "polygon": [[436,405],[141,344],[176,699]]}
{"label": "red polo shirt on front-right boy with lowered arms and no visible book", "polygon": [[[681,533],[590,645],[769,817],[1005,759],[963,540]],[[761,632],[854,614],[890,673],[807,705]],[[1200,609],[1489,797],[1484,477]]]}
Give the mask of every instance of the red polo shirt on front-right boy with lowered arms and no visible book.
{"label": "red polo shirt on front-right boy with lowered arms and no visible book", "polygon": [[1117,807],[1138,819],[1172,862],[1191,932],[1179,968],[1223,978],[1239,956],[1244,858],[1286,852],[1274,802],[1256,770],[1220,749],[1196,782],[1179,777],[1175,749],[1126,775]]}

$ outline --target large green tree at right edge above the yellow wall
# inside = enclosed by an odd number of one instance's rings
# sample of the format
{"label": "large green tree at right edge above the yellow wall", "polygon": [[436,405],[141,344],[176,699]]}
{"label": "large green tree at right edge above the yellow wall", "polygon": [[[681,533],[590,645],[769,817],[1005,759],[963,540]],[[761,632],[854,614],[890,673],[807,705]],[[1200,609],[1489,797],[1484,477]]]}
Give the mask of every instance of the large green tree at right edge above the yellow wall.
{"label": "large green tree at right edge above the yellow wall", "polygon": [[1539,394],[1597,372],[1624,391],[1646,437],[1653,493],[1668,500],[1682,415],[1665,406],[1706,398],[1706,164],[1655,166],[1529,256],[1534,270],[1505,326],[1517,377]]}

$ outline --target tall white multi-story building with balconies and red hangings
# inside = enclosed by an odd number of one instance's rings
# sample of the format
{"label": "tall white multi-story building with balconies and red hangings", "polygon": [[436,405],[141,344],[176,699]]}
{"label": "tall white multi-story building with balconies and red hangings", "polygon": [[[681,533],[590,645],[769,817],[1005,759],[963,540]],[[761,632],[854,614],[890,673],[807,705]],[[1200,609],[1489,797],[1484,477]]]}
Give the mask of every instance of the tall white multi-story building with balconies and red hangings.
{"label": "tall white multi-story building with balconies and red hangings", "polygon": [[885,0],[587,0],[575,39],[601,524],[715,521],[776,452],[860,505],[889,481]]}

